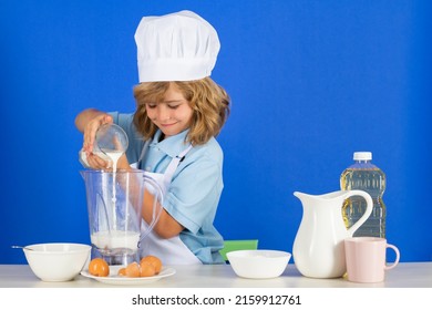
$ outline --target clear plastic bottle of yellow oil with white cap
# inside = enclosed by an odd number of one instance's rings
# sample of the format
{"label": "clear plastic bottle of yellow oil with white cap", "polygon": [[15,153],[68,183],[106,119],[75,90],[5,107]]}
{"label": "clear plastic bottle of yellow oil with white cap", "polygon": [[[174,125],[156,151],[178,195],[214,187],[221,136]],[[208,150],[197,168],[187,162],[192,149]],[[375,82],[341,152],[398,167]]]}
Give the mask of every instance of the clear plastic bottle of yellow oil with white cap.
{"label": "clear plastic bottle of yellow oil with white cap", "polygon": [[[354,164],[340,176],[340,187],[343,190],[360,189],[367,192],[373,200],[372,214],[354,232],[354,237],[385,238],[385,205],[382,195],[385,190],[385,174],[371,163],[371,152],[356,152]],[[351,227],[364,213],[366,202],[359,196],[344,200],[342,217],[347,228]]]}

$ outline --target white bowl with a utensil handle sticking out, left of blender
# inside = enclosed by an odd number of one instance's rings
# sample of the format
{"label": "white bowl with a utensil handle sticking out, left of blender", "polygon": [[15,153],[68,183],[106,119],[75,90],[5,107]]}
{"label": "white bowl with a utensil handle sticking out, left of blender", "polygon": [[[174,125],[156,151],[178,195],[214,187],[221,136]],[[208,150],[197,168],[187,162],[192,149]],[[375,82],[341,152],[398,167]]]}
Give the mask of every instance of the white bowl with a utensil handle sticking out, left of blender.
{"label": "white bowl with a utensil handle sticking out, left of blender", "polygon": [[42,281],[70,281],[83,269],[91,246],[39,244],[23,248],[31,270]]}

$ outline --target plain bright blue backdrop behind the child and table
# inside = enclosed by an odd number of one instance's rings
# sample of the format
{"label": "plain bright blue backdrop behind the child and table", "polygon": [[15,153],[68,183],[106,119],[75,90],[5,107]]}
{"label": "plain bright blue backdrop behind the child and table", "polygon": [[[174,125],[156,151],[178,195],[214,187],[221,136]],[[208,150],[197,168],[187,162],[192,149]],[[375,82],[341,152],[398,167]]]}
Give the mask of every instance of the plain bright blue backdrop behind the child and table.
{"label": "plain bright blue backdrop behind the child and table", "polygon": [[339,189],[356,151],[388,177],[387,237],[432,260],[430,1],[0,0],[0,264],[11,245],[89,244],[75,115],[134,111],[143,16],[189,9],[218,31],[213,79],[233,100],[218,140],[226,239],[292,250],[295,190]]}

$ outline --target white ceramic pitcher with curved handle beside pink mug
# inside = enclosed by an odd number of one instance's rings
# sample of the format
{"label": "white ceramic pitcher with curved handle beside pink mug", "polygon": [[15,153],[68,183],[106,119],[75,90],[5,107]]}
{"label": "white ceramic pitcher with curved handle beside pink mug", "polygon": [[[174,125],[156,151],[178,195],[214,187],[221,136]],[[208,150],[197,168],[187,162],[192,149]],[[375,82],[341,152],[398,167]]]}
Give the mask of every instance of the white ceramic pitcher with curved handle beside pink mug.
{"label": "white ceramic pitcher with curved handle beside pink mug", "polygon": [[[311,278],[338,278],[347,271],[344,259],[346,238],[369,218],[372,198],[363,190],[337,190],[323,195],[295,192],[304,208],[300,227],[292,247],[292,258],[301,275]],[[342,218],[343,200],[361,196],[367,202],[363,216],[350,228]]]}

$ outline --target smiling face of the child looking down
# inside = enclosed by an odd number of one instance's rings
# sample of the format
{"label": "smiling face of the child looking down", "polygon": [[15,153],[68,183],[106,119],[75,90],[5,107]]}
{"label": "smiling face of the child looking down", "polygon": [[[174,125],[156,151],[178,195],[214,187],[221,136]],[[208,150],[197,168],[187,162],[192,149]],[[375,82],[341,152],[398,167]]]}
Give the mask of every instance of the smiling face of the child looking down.
{"label": "smiling face of the child looking down", "polygon": [[191,125],[193,110],[178,89],[171,84],[163,101],[146,103],[145,110],[152,122],[165,137],[176,135]]}

